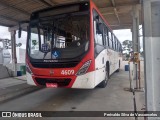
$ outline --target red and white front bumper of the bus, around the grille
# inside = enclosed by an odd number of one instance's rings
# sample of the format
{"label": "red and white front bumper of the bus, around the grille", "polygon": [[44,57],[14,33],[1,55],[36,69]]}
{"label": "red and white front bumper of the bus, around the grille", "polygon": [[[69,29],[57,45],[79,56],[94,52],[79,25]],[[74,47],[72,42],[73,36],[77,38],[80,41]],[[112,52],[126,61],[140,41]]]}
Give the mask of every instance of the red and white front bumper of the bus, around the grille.
{"label": "red and white front bumper of the bus, around the grille", "polygon": [[57,87],[62,88],[81,88],[81,89],[92,89],[95,87],[95,73],[94,71],[86,73],[80,76],[66,76],[63,77],[51,77],[51,76],[35,76],[28,72],[27,83],[35,86],[46,86],[47,83],[57,84]]}

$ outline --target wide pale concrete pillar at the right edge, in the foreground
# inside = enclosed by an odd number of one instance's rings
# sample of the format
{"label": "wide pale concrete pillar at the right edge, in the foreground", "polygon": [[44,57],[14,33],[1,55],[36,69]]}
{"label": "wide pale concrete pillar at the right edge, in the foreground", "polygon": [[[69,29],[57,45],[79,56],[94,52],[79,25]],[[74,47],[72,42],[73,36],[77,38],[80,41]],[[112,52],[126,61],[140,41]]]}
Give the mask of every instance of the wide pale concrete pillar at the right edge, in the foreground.
{"label": "wide pale concrete pillar at the right edge, in the foreground", "polygon": [[160,0],[143,0],[143,12],[146,109],[160,111]]}

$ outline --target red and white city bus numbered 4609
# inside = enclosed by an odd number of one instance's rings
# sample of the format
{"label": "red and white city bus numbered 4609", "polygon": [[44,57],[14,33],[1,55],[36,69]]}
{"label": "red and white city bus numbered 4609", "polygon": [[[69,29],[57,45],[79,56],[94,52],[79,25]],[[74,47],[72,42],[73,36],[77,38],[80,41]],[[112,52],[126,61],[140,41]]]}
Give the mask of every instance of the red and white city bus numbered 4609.
{"label": "red and white city bus numbered 4609", "polygon": [[33,12],[26,45],[27,83],[105,88],[120,68],[121,43],[91,0]]}

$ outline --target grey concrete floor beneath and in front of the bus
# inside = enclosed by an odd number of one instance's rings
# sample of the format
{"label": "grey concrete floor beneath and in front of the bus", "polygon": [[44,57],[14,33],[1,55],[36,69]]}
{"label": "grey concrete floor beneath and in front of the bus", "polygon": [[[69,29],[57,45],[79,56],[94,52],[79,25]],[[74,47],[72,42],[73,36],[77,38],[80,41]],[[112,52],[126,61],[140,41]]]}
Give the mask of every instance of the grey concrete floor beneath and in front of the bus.
{"label": "grey concrete floor beneath and in front of the bus", "polygon": [[[133,111],[133,95],[131,92],[124,90],[124,88],[128,87],[128,72],[121,70],[119,73],[114,73],[111,76],[108,86],[105,89],[96,88],[93,90],[81,90],[43,88],[0,103],[0,111]],[[143,92],[136,92],[136,102],[138,110],[141,110],[144,107]],[[45,120],[46,118],[42,119]],[[127,117],[47,119],[134,120],[134,118]],[[3,118],[2,120],[5,119]]]}

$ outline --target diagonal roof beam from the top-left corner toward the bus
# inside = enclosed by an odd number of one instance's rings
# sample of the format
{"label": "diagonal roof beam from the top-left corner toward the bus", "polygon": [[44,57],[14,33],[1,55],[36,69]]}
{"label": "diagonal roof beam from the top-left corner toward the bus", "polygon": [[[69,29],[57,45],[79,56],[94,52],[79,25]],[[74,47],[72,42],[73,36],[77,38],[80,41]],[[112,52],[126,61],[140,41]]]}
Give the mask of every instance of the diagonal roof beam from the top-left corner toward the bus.
{"label": "diagonal roof beam from the top-left corner toward the bus", "polygon": [[12,10],[15,10],[15,11],[17,11],[17,12],[20,12],[20,13],[22,13],[22,14],[25,14],[25,15],[27,15],[27,16],[30,15],[30,13],[26,12],[25,10],[22,10],[22,9],[19,9],[19,8],[17,8],[17,7],[12,6],[12,5],[9,5],[8,3],[2,2],[1,0],[0,0],[0,5],[2,5],[2,6],[4,6],[4,7],[7,7],[7,8],[10,8],[10,9],[12,9]]}

